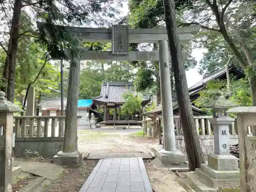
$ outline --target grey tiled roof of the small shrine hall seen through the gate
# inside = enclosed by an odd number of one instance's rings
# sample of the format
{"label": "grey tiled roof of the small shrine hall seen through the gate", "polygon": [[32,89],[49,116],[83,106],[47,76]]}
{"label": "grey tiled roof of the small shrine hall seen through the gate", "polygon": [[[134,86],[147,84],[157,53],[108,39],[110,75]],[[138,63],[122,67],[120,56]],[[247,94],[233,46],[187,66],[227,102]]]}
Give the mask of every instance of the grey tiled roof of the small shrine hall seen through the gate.
{"label": "grey tiled roof of the small shrine hall seen through the gate", "polygon": [[[95,102],[105,103],[124,103],[123,94],[131,92],[141,95],[135,91],[133,82],[103,82],[101,85],[100,96],[93,98]],[[142,100],[150,100],[150,97],[142,96]]]}

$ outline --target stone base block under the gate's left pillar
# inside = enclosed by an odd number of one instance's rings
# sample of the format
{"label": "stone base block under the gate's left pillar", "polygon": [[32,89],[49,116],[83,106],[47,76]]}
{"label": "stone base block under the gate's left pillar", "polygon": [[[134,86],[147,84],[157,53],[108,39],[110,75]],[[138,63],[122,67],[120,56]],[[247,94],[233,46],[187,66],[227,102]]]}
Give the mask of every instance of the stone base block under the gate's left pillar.
{"label": "stone base block under the gate's left pillar", "polygon": [[74,155],[69,155],[69,153],[67,153],[67,155],[62,155],[61,153],[59,153],[53,157],[53,163],[57,165],[74,166],[77,165],[82,159],[82,154],[80,152]]}

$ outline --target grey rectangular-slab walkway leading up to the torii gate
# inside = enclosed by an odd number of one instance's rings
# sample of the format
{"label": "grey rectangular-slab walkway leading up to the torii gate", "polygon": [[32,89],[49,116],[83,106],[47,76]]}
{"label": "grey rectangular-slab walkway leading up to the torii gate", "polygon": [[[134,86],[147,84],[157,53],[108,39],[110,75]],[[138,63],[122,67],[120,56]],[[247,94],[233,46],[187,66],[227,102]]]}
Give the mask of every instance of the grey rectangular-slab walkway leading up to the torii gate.
{"label": "grey rectangular-slab walkway leading up to the torii gate", "polygon": [[152,192],[142,157],[101,159],[79,192]]}

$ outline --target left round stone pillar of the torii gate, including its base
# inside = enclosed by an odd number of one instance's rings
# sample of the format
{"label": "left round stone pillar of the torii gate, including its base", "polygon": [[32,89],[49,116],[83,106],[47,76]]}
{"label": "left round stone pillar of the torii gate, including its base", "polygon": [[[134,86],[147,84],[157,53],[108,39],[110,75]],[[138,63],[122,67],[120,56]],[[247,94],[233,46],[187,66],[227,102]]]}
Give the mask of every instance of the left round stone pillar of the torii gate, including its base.
{"label": "left round stone pillar of the torii gate, including its base", "polygon": [[65,134],[62,151],[53,158],[53,163],[61,165],[77,164],[82,154],[77,149],[77,111],[80,82],[80,60],[71,54],[69,87],[66,106]]}

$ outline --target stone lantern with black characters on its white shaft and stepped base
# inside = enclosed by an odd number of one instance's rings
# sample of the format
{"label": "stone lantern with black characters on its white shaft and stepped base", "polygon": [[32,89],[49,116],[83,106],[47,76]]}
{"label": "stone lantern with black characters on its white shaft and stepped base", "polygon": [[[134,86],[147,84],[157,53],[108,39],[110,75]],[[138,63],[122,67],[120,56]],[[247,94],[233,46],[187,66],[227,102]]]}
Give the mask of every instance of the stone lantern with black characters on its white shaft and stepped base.
{"label": "stone lantern with black characters on its white shaft and stepped base", "polygon": [[[208,164],[201,164],[196,169],[196,175],[209,185],[217,188],[238,188],[240,186],[238,158],[229,153],[229,125],[234,122],[234,118],[226,116],[228,108],[237,106],[232,101],[225,99],[221,92],[217,92],[215,97],[204,108],[213,110],[213,118],[209,119],[214,131],[214,153],[208,154]],[[190,180],[193,176],[189,175]],[[197,182],[193,182],[195,187],[199,187]]]}

